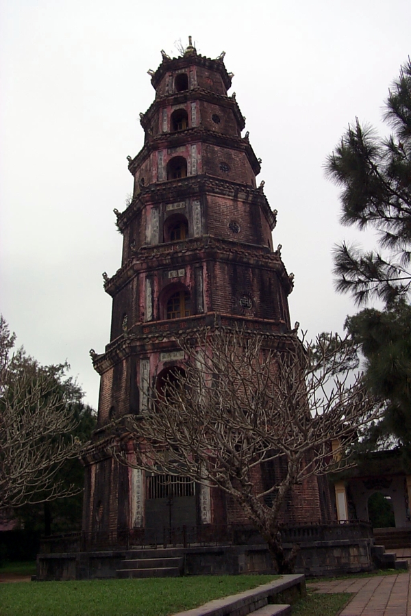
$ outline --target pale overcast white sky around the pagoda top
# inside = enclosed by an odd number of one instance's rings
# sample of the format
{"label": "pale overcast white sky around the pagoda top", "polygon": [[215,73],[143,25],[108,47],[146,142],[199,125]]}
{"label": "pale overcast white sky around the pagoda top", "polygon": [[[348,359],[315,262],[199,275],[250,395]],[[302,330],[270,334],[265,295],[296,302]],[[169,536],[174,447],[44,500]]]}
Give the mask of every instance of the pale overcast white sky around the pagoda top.
{"label": "pale overcast white sky around the pagoda top", "polygon": [[382,127],[388,86],[410,53],[410,0],[3,0],[0,3],[0,311],[41,363],[67,359],[97,408],[111,298],[101,272],[121,263],[113,208],[132,192],[127,155],[160,49],[192,35],[235,74],[245,130],[278,210],[274,246],[292,322],[314,336],[356,311],[334,292],[338,223],[323,163],[358,116]]}

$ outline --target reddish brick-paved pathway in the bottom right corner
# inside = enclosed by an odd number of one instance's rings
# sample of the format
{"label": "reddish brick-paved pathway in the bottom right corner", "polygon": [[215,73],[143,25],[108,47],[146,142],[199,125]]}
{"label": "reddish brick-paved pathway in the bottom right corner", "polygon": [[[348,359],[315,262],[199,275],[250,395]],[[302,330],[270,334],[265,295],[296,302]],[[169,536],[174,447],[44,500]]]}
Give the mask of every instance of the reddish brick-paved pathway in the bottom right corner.
{"label": "reddish brick-paved pathway in the bottom right corner", "polygon": [[309,582],[318,593],[356,593],[340,616],[411,616],[411,574]]}

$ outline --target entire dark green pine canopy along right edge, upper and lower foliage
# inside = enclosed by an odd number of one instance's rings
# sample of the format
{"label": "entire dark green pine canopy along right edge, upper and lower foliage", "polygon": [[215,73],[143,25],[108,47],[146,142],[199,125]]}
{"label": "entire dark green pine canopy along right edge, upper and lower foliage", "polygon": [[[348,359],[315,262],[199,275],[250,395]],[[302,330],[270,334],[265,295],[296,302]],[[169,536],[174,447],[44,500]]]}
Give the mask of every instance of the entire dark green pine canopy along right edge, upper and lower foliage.
{"label": "entire dark green pine canopy along right edge, upper and lower foliage", "polygon": [[411,452],[411,60],[401,66],[385,103],[393,132],[381,138],[358,119],[327,159],[327,173],[343,188],[345,225],[377,231],[377,248],[336,246],[336,288],[358,305],[382,300],[347,318],[353,344],[365,358],[369,390],[386,404],[371,426],[367,447],[393,445]]}

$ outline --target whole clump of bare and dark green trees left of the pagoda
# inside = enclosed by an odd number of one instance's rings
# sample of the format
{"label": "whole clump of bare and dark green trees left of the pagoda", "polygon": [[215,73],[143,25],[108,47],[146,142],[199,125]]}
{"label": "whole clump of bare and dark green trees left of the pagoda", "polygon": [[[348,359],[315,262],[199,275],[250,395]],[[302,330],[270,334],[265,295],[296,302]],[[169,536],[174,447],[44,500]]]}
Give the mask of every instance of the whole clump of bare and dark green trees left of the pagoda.
{"label": "whole clump of bare and dark green trees left of the pagoda", "polygon": [[[0,316],[0,510],[11,519],[21,517],[29,530],[38,530],[42,518],[49,532],[53,517],[61,530],[78,528],[83,489],[78,456],[95,414],[67,376],[67,363],[42,366],[23,348],[14,350],[15,339]],[[64,502],[67,496],[73,500]],[[51,504],[56,498],[58,504]]]}

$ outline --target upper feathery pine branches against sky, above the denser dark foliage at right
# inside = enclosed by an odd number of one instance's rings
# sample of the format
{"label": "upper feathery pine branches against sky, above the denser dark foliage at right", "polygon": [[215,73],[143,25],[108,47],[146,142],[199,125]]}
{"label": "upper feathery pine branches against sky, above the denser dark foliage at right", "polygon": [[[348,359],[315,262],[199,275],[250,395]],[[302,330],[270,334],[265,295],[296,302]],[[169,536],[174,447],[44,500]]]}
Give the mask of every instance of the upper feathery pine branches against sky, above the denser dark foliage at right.
{"label": "upper feathery pine branches against sky, above the denser dark foliage at right", "polygon": [[371,127],[349,125],[327,159],[326,170],[343,187],[343,224],[375,229],[379,251],[343,243],[335,249],[337,290],[359,305],[373,297],[387,305],[410,292],[411,272],[411,61],[401,67],[386,101],[388,139]]}

